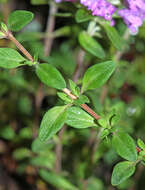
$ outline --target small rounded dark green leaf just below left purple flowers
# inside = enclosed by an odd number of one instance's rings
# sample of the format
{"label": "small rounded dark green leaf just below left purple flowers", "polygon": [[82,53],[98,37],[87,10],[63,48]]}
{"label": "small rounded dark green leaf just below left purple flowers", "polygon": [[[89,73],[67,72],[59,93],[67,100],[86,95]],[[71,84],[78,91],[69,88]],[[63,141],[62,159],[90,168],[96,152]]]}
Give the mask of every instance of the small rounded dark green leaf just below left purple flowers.
{"label": "small rounded dark green leaf just below left purple flowers", "polygon": [[90,15],[89,12],[86,11],[85,9],[79,9],[75,15],[75,19],[77,23],[86,22],[90,20],[91,18],[93,18],[93,16]]}

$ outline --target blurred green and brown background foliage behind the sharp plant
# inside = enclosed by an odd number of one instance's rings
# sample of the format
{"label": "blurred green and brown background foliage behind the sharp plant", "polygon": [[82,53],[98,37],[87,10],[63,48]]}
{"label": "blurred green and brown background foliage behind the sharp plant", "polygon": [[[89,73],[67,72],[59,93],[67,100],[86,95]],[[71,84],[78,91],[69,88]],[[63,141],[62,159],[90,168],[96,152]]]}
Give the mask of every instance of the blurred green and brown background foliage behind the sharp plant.
{"label": "blurred green and brown background foliage behind the sharp plant", "polygon": [[[74,79],[81,49],[78,34],[88,22],[76,22],[77,5],[57,5],[54,32],[49,37],[52,45],[45,52],[50,9],[52,2],[48,0],[0,0],[0,20],[7,23],[14,10],[33,12],[33,21],[14,33],[17,40],[41,62],[53,64],[65,78]],[[122,35],[125,25],[121,20],[117,20],[116,27]],[[106,59],[113,57],[116,49],[101,28],[97,38],[106,51]],[[108,84],[105,100],[100,98],[100,89],[87,95],[97,113],[109,112],[110,107],[116,106],[121,115],[117,127],[124,128],[135,140],[145,140],[145,24],[137,36],[129,38],[129,43],[130,48]],[[16,48],[5,39],[0,40],[0,47]],[[99,62],[87,53],[85,60],[78,84],[86,68]],[[144,190],[145,169],[141,165],[129,180],[117,187],[111,185],[112,168],[121,158],[109,139],[98,140],[97,131],[64,126],[46,144],[39,141],[42,116],[61,104],[56,90],[41,84],[34,68],[0,69],[0,190]]]}

